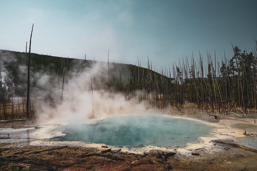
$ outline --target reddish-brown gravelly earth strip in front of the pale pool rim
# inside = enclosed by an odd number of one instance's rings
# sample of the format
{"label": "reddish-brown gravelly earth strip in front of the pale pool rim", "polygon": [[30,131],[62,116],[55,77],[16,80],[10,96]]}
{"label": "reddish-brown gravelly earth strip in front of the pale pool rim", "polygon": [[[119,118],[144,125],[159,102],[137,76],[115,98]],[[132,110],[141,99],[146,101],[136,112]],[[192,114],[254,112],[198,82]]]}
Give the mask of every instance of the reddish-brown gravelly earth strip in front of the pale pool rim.
{"label": "reddish-brown gravelly earth strip in front of the pale pool rim", "polygon": [[[15,122],[16,128],[22,128],[24,122]],[[0,124],[1,127],[7,126]],[[9,125],[8,125],[9,126]],[[257,143],[257,142],[256,142]],[[174,156],[163,159],[156,150],[144,155],[127,154],[115,151],[101,153],[96,148],[31,146],[25,142],[1,143],[0,170],[257,170],[257,153],[233,147],[229,144],[214,144],[222,149],[206,154],[206,149],[192,151],[200,155]],[[108,149],[108,148],[106,148]],[[46,150],[46,151],[43,151]],[[38,152],[43,151],[43,152]],[[33,153],[34,152],[34,153]],[[161,151],[159,151],[161,153]]]}

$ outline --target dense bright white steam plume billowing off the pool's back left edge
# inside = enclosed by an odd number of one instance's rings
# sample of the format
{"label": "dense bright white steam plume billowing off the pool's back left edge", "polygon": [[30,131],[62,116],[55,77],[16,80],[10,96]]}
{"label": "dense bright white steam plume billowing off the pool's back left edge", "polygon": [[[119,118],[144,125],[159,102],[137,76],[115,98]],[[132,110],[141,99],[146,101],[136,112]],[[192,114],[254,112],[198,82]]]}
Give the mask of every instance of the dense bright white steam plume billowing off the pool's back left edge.
{"label": "dense bright white steam plume billowing off the pool's back left edge", "polygon": [[[39,122],[65,122],[65,123],[81,123],[93,116],[102,118],[111,114],[122,113],[142,113],[146,110],[144,102],[136,99],[126,99],[122,93],[115,93],[108,90],[106,81],[108,82],[107,64],[96,62],[86,71],[73,71],[70,78],[64,82],[63,101],[56,103],[55,107],[44,106],[41,111],[37,112]],[[112,65],[109,66],[113,68]],[[91,77],[93,86],[93,99],[91,90]],[[55,99],[60,101],[62,83],[49,85],[51,80],[58,79],[56,76],[42,75],[38,79],[38,85],[47,87],[45,90],[40,88],[38,91],[38,100]],[[61,78],[62,79],[62,78]],[[110,78],[111,79],[111,78]],[[106,89],[107,88],[107,89]],[[36,93],[36,92],[35,92]],[[44,97],[44,99],[42,99]],[[47,98],[48,97],[48,98]],[[51,97],[51,98],[49,98]]]}

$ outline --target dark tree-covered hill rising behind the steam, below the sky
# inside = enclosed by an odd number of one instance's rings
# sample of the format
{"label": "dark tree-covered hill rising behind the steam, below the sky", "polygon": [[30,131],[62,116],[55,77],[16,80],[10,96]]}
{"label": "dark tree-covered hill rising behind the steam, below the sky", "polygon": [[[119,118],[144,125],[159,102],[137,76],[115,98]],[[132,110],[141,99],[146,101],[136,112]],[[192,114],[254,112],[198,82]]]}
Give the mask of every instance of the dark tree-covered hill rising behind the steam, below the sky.
{"label": "dark tree-covered hill rising behind the steam, below the sky", "polygon": [[[106,58],[107,59],[107,58]],[[148,61],[145,61],[145,63]],[[36,53],[31,53],[30,58],[30,71],[31,71],[31,86],[35,87],[37,83],[37,75],[48,74],[56,75],[58,78],[63,75],[63,70],[65,68],[65,74],[70,74],[71,72],[85,71],[85,69],[94,66],[94,64],[99,64],[108,69],[107,62],[98,62],[94,60],[84,60],[84,59],[74,59],[74,58],[64,58],[50,55],[40,55]],[[140,63],[140,62],[139,62]],[[27,83],[27,65],[28,65],[28,53],[25,52],[15,52],[9,50],[0,50],[0,70],[2,78],[2,87],[6,88],[9,95],[17,94],[19,96],[24,96],[26,93],[26,83]],[[162,84],[161,80],[168,81],[171,83],[171,79],[158,74],[151,70],[150,67],[143,68],[131,64],[120,64],[115,62],[109,62],[109,83],[105,82],[105,86],[114,87],[115,90],[131,92],[133,90],[153,90],[153,87],[158,84]],[[108,70],[106,70],[108,74]],[[170,74],[170,73],[169,73]],[[168,71],[166,75],[168,76]],[[170,76],[170,75],[169,75]],[[65,76],[66,77],[66,76]],[[68,78],[67,78],[68,79]],[[153,84],[157,81],[157,84]],[[61,79],[59,80],[62,81]],[[168,82],[166,84],[168,84]],[[110,85],[108,85],[110,84]],[[158,85],[157,85],[158,86]],[[102,86],[103,87],[103,86]],[[102,88],[100,87],[100,88]],[[3,88],[4,89],[4,88]],[[7,93],[5,93],[6,95]]]}

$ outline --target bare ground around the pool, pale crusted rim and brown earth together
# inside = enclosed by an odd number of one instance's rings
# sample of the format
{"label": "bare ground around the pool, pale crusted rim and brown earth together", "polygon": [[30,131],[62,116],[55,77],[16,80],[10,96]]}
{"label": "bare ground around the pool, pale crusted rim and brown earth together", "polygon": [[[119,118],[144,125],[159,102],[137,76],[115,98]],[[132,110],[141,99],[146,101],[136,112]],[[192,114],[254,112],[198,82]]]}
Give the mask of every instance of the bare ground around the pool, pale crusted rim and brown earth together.
{"label": "bare ground around the pool, pale crusted rim and brown earth together", "polygon": [[[174,117],[174,116],[173,116]],[[177,116],[176,116],[177,117]],[[185,116],[184,116],[185,117]],[[186,147],[166,149],[148,146],[141,149],[119,147],[102,148],[102,144],[70,143],[68,147],[48,150],[57,147],[58,142],[44,141],[42,139],[18,138],[14,135],[10,139],[0,139],[0,170],[6,168],[18,170],[257,170],[257,153],[233,147],[231,145],[216,143],[222,140],[235,144],[251,147],[252,141],[256,142],[256,125],[253,118],[221,117],[214,120],[210,116],[186,115],[190,119],[208,122],[215,128],[209,137],[200,137],[197,144],[187,144]],[[241,124],[241,125],[240,125]],[[14,122],[15,128],[29,130],[31,135],[36,134],[34,127],[25,128],[25,122]],[[246,128],[246,125],[248,127]],[[6,137],[4,130],[11,128],[10,123],[1,123],[1,136]],[[21,129],[18,129],[21,130]],[[36,131],[35,131],[36,130]],[[252,133],[245,136],[244,131]],[[256,130],[256,132],[255,132]],[[33,144],[37,142],[37,144]],[[249,143],[250,142],[250,143]],[[41,143],[41,144],[40,144]],[[53,144],[54,143],[54,144]],[[76,145],[76,146],[71,146]],[[111,152],[101,153],[102,150],[111,148]],[[199,149],[200,148],[200,149]],[[253,147],[252,147],[253,148]],[[46,151],[42,151],[46,150]],[[41,152],[38,152],[41,151]],[[158,152],[176,153],[166,159],[160,158]],[[34,153],[32,153],[34,152]],[[29,154],[32,153],[32,154]],[[200,155],[192,155],[198,153]],[[166,164],[164,164],[166,163]]]}

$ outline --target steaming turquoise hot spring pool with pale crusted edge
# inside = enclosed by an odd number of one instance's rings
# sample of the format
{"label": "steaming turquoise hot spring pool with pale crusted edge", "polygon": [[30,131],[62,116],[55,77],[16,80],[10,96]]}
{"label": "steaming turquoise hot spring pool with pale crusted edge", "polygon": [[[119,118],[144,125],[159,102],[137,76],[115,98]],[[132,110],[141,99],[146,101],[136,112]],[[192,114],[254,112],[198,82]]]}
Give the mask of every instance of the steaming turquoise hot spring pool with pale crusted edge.
{"label": "steaming turquoise hot spring pool with pale crusted edge", "polygon": [[207,136],[213,127],[203,122],[163,115],[113,116],[95,124],[63,125],[56,130],[65,136],[53,141],[83,141],[115,146],[185,146]]}

